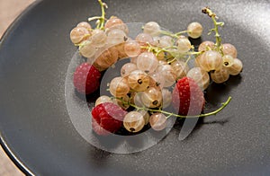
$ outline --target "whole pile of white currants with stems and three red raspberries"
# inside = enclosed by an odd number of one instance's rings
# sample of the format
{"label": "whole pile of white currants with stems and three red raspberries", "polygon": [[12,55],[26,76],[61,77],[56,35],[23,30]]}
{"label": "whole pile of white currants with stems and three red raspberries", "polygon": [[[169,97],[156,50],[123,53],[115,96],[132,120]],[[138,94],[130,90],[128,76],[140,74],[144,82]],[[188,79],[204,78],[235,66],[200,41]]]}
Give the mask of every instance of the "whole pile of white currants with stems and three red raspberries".
{"label": "whole pile of white currants with stems and three red raspberries", "polygon": [[[209,8],[207,13],[214,22],[216,43],[204,41],[195,51],[189,38],[202,35],[202,25],[192,22],[186,31],[162,31],[157,22],[147,22],[135,39],[129,37],[128,25],[120,18],[105,18],[107,7],[102,0],[102,15],[92,29],[88,22],[79,22],[70,32],[71,41],[87,62],[77,66],[74,85],[77,92],[89,94],[99,88],[101,72],[121,58],[130,62],[121,66],[121,76],[108,83],[111,97],[102,95],[92,110],[92,125],[98,135],[115,133],[121,127],[137,133],[145,126],[154,130],[166,128],[166,119],[205,117],[219,110],[201,114],[205,100],[203,90],[212,82],[224,83],[229,75],[238,75],[241,61],[231,44],[221,44],[216,15]],[[187,34],[187,37],[184,36]],[[195,66],[189,65],[194,60]],[[174,107],[176,113],[166,111]]]}

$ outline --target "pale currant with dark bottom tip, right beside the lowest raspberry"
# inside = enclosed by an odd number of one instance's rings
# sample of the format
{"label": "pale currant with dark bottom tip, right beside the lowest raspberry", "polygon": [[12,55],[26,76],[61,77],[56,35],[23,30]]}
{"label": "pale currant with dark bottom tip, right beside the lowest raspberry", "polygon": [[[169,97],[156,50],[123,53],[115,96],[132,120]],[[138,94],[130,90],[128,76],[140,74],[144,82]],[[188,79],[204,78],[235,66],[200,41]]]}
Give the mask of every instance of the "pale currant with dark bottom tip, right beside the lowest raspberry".
{"label": "pale currant with dark bottom tip, right beside the lowest raspberry", "polygon": [[123,119],[124,128],[132,133],[139,132],[144,125],[144,118],[138,111],[130,111]]}

